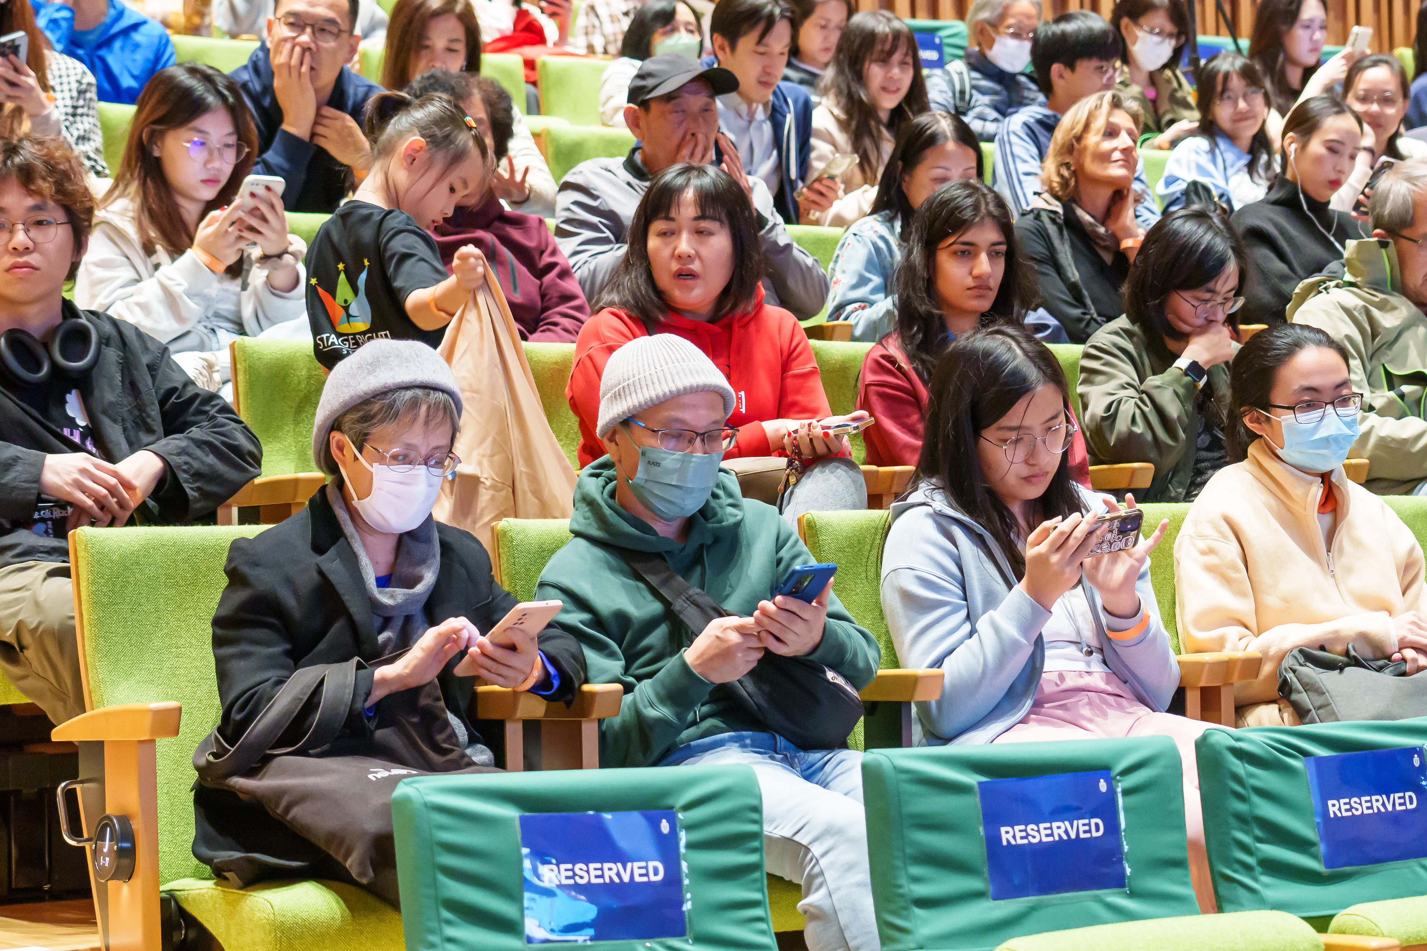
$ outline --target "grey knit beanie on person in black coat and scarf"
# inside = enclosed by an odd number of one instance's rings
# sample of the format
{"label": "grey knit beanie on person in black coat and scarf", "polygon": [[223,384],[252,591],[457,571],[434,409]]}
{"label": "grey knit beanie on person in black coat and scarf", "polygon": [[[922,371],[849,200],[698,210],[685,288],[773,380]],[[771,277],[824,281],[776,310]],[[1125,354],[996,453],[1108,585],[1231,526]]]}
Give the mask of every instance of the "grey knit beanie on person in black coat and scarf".
{"label": "grey knit beanie on person in black coat and scarf", "polygon": [[344,412],[372,396],[425,386],[440,389],[455,402],[455,415],[461,416],[461,389],[447,362],[434,349],[418,341],[377,339],[357,348],[357,352],[337,364],[323,398],[317,401],[317,418],[313,421],[313,459],[323,458],[323,446],[332,431],[332,423]]}

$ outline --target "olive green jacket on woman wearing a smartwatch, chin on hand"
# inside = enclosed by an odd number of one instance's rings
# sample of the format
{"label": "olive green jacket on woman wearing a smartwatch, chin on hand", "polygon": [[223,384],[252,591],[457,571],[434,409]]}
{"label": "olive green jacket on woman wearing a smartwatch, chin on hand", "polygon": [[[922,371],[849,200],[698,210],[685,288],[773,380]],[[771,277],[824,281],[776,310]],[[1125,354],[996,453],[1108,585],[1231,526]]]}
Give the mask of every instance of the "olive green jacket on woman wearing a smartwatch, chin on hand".
{"label": "olive green jacket on woman wearing a smartwatch, chin on hand", "polygon": [[[1183,502],[1194,475],[1199,389],[1164,339],[1117,317],[1080,354],[1080,406],[1090,465],[1149,462],[1154,480],[1137,502]],[[1204,386],[1229,408],[1229,365],[1209,368]]]}

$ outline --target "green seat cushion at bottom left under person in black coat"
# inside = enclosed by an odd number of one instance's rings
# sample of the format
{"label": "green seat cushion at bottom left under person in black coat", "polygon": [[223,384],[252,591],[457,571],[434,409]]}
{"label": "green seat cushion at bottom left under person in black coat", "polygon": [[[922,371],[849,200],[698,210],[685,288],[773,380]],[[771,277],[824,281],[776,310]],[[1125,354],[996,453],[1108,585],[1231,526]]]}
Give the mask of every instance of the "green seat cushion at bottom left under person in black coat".
{"label": "green seat cushion at bottom left under person in black coat", "polygon": [[233,888],[183,878],[164,885],[225,951],[402,951],[401,914],[370,891],[335,881],[271,881]]}

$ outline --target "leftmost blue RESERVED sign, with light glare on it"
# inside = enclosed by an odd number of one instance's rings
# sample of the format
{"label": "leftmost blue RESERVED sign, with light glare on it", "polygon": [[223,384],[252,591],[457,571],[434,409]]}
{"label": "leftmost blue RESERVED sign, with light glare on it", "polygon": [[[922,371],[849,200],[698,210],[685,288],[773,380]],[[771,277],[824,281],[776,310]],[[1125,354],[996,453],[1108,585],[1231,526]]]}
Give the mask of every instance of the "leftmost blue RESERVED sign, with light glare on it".
{"label": "leftmost blue RESERVED sign, with light glare on it", "polygon": [[688,935],[684,836],[674,811],[519,820],[525,944]]}

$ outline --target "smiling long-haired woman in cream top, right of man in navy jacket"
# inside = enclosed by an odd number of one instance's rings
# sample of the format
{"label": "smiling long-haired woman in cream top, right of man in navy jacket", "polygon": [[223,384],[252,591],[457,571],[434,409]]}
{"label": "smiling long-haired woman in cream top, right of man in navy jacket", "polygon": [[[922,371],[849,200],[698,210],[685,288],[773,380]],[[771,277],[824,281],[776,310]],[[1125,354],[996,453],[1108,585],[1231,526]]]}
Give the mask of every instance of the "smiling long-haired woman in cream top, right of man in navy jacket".
{"label": "smiling long-haired woman in cream top, right of man in navy jacket", "polygon": [[848,20],[818,91],[808,181],[833,155],[856,155],[858,164],[843,173],[843,194],[828,207],[806,211],[805,192],[803,224],[849,225],[872,208],[902,125],[930,108],[916,34],[886,10],[859,13]]}

